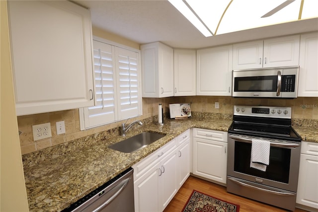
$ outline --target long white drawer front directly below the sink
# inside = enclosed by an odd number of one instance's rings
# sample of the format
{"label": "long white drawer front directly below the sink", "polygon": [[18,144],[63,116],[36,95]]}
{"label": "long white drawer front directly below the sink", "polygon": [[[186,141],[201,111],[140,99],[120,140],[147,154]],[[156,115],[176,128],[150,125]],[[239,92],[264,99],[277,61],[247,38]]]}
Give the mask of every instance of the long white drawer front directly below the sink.
{"label": "long white drawer front directly below the sink", "polygon": [[134,169],[134,179],[137,180],[141,175],[143,175],[147,170],[153,167],[158,160],[166,156],[176,147],[176,139],[171,140],[169,143],[160,147],[155,152],[151,153],[138,163],[134,164],[132,167]]}

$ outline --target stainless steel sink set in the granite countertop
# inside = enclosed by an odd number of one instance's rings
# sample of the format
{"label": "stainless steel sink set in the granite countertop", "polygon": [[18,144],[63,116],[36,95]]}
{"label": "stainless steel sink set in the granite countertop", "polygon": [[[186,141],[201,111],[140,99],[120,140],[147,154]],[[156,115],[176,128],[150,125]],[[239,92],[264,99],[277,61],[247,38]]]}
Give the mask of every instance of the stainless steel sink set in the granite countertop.
{"label": "stainless steel sink set in the granite countertop", "polygon": [[109,145],[108,148],[111,148],[120,152],[132,153],[159,140],[163,136],[165,136],[165,134],[160,134],[157,132],[142,132],[138,135],[127,138],[118,143]]}

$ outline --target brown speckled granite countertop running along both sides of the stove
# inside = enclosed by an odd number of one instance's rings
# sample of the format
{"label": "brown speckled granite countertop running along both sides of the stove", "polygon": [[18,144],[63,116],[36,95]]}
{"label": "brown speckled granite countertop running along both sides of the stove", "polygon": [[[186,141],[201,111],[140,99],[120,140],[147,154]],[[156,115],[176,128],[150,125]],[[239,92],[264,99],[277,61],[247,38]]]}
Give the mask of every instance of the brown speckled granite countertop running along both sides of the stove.
{"label": "brown speckled granite countertop running along both sides of the stove", "polygon": [[[125,138],[144,131],[161,132],[166,135],[133,153],[122,153],[107,148],[108,145],[124,139],[116,132],[103,138],[92,135],[80,142],[73,142],[72,145],[77,148],[72,147],[72,150],[70,144],[61,144],[32,155],[23,155],[29,210],[61,211],[185,130],[197,127],[228,131],[231,123],[232,119],[227,118],[192,117],[181,120],[169,119],[162,126],[154,123],[144,124],[129,130]],[[301,126],[294,128],[303,140],[318,142],[317,128]],[[61,154],[62,150],[66,153]]]}

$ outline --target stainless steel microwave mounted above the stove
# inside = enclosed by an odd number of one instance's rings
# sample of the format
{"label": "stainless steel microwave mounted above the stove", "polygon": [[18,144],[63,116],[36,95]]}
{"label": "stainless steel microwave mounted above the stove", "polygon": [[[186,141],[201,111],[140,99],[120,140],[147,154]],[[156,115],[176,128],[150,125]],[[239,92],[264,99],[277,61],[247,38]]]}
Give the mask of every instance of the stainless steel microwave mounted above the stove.
{"label": "stainless steel microwave mounted above the stove", "polygon": [[299,67],[233,70],[232,97],[297,98]]}

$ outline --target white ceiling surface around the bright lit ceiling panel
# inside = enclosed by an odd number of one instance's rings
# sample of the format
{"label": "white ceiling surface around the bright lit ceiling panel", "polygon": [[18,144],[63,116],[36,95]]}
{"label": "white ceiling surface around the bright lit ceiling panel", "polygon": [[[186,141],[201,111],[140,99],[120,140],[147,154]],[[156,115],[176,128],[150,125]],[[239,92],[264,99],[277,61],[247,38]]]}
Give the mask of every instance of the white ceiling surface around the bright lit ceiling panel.
{"label": "white ceiling surface around the bright lit ceiling panel", "polygon": [[173,48],[204,48],[318,31],[318,18],[204,37],[167,0],[75,0],[91,11],[92,24],[134,42],[161,41]]}

